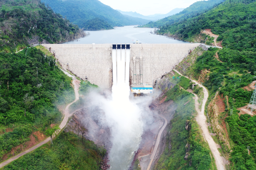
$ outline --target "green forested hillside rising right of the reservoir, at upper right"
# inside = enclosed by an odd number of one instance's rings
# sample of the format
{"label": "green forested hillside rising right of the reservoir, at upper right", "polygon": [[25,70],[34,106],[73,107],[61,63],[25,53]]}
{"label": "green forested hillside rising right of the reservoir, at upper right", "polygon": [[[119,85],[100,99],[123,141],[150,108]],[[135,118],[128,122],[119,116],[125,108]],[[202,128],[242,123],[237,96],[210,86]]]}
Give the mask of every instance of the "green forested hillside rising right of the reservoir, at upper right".
{"label": "green forested hillside rising right of the reservoir, at upper right", "polygon": [[255,0],[227,0],[198,17],[162,26],[159,33],[169,32],[173,37],[194,42],[201,30],[211,29],[225,48],[255,51],[256,2],[252,1]]}

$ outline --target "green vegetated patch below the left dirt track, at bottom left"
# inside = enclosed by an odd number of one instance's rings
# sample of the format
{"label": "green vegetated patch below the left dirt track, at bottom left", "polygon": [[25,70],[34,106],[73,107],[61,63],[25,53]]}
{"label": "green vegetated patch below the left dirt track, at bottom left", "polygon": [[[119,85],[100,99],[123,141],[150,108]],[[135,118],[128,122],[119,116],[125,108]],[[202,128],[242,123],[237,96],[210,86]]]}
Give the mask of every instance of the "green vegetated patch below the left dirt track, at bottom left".
{"label": "green vegetated patch below the left dirt track, at bottom left", "polygon": [[89,140],[81,142],[74,133],[61,133],[53,144],[12,161],[3,170],[99,170],[106,150]]}

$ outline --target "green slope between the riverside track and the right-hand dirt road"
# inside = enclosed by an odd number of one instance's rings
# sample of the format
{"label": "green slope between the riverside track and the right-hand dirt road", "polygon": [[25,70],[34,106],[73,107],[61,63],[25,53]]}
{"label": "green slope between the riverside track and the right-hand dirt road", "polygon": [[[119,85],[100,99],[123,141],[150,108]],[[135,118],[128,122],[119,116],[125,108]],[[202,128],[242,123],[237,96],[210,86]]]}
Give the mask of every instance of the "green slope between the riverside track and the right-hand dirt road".
{"label": "green slope between the riverside track and the right-hand dirt road", "polygon": [[[166,127],[167,134],[164,140],[166,147],[157,160],[154,170],[214,170],[215,161],[212,159],[209,145],[204,141],[195,120],[197,113],[194,95],[186,91],[186,89],[191,90],[192,82],[174,71],[167,74],[166,78],[176,85],[166,91],[159,100],[165,102],[172,100],[177,109],[169,126]],[[202,88],[196,87],[194,93],[201,98],[201,91]]]}

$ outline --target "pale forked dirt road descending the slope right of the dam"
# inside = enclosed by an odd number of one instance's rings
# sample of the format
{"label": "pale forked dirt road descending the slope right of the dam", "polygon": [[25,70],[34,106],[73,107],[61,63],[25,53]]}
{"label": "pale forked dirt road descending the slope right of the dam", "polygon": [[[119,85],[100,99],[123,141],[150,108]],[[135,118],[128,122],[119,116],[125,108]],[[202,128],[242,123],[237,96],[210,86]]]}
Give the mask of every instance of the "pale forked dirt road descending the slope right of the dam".
{"label": "pale forked dirt road descending the slope right of the dam", "polygon": [[[175,70],[176,71],[176,70]],[[180,74],[180,72],[176,71],[178,74]],[[182,75],[182,74],[180,74]],[[184,76],[186,77],[186,76]],[[188,77],[186,77],[188,78]],[[188,78],[189,79],[189,78]],[[226,170],[225,166],[224,166],[224,161],[223,158],[221,157],[220,152],[218,151],[218,146],[217,144],[214,142],[214,140],[212,139],[212,136],[209,133],[208,130],[208,125],[206,124],[206,116],[204,115],[204,108],[205,108],[205,104],[207,102],[207,98],[209,96],[207,89],[202,86],[201,84],[199,84],[197,81],[192,80],[192,82],[194,82],[195,84],[197,84],[199,87],[203,88],[204,91],[204,99],[203,99],[203,103],[202,103],[202,110],[200,111],[199,109],[199,103],[198,103],[198,96],[196,94],[195,95],[195,109],[198,112],[198,115],[196,116],[196,121],[198,122],[198,125],[200,126],[204,139],[208,142],[210,150],[212,151],[213,157],[215,159],[215,164],[217,166],[218,170]]]}

